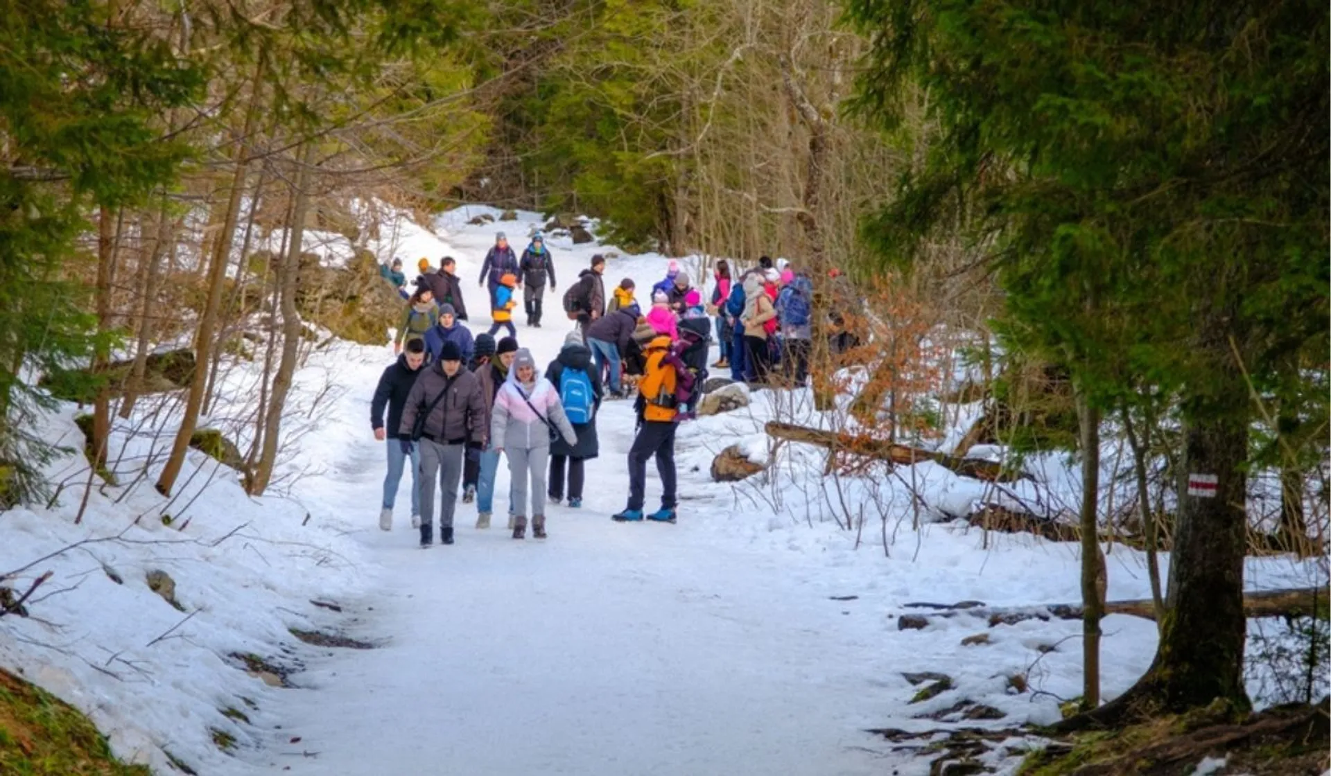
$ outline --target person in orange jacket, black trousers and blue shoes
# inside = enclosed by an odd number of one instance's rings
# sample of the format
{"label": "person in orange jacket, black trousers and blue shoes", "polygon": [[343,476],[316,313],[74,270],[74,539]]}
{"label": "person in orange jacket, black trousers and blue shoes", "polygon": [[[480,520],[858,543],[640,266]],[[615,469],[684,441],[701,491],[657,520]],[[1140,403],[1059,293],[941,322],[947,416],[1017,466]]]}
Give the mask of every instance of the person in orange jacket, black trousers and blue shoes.
{"label": "person in orange jacket, black trousers and blue shoes", "polygon": [[[612,518],[618,522],[648,520],[675,522],[675,415],[679,413],[680,393],[689,398],[692,375],[671,353],[669,337],[660,334],[647,343],[647,366],[638,383],[638,435],[628,450],[628,506]],[[683,389],[683,391],[680,390]],[[662,479],[662,508],[643,515],[647,490],[647,459],[656,457],[656,471]]]}

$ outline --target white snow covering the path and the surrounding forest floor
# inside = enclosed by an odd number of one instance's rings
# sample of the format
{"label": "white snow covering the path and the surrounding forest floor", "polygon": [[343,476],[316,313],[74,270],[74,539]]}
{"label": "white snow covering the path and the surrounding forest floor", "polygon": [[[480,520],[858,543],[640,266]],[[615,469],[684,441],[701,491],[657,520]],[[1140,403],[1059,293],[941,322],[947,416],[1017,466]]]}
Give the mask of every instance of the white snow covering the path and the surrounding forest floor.
{"label": "white snow covering the path and the surrounding forest floor", "polygon": [[[530,230],[543,226],[530,212],[516,221],[469,224],[482,213],[498,220],[500,210],[459,208],[430,229],[399,220],[366,246],[381,261],[402,258],[409,273],[419,257],[437,265],[454,256],[474,299],[470,325],[479,331],[488,314],[474,284],[494,233],[506,232],[520,250]],[[595,222],[590,226],[595,233]],[[311,233],[306,240],[323,246],[330,264],[350,256],[345,238]],[[547,245],[564,284],[594,253],[610,257],[607,288],[631,277],[647,289],[668,261],[572,245],[568,237],[547,236]],[[696,257],[680,261],[697,277]],[[519,315],[519,341],[540,365],[554,358],[571,326],[556,293],[547,299],[546,327],[522,327]],[[926,760],[908,760],[864,731],[948,727],[917,717],[958,701],[1006,715],[964,725],[1050,723],[1059,716],[1059,699],[1081,692],[1079,622],[988,628],[956,616],[932,618],[924,630],[897,627],[900,615],[920,614],[904,607],[910,602],[1079,599],[1078,544],[986,536],[948,522],[980,502],[1050,514],[1069,508],[1079,483],[1063,455],[1029,458],[1033,479],[996,492],[932,462],[824,477],[820,451],[788,445],[769,471],[743,483],[712,483],[712,457],[729,445],[768,461],[763,425],[769,419],[828,427],[807,393],[753,391],[744,410],[680,427],[679,524],[618,524],[608,515],[627,498],[624,457],[634,421],[628,402],[608,402],[584,506],[550,507],[548,540],[514,542],[502,528],[508,479],[502,465],[496,527],[474,530],[475,508],[459,504],[458,543],[422,551],[407,526],[410,478],[401,486],[394,530],[377,527],[383,443],[374,442],[367,414],[390,362],[387,346],[334,342],[310,350],[293,393],[299,421],[277,473],[281,487],[265,498],[249,498],[229,470],[197,453],[176,499],[158,496],[150,483],[169,435],[154,442],[148,431],[170,430],[170,407],[117,423],[117,473],[133,481],[146,463],[152,474],[128,495],[124,487],[95,488],[81,524],[73,522],[87,478],[81,458],[57,463],[53,474],[72,478],[57,504],[0,514],[0,572],[98,540],[17,575],[13,584],[25,590],[39,574],[55,574],[29,602],[32,618],[0,619],[0,666],[21,668],[89,712],[126,759],[165,773],[169,751],[200,773],[224,776],[430,773],[441,767],[458,773],[926,773]],[[209,418],[241,449],[249,443],[244,429],[257,369],[234,365]],[[51,417],[43,433],[81,443],[73,411]],[[978,407],[962,409],[938,447],[954,449],[977,415]],[[1005,451],[973,449],[970,455],[1001,459]],[[658,494],[648,466],[648,499]],[[1106,554],[1109,596],[1147,598],[1141,554],[1123,546]],[[1162,575],[1167,560],[1162,554]],[[104,566],[124,584],[112,582]],[[176,579],[186,612],[148,590],[144,575],[154,568]],[[1246,571],[1248,587],[1320,579],[1315,562],[1287,558],[1250,558]],[[1102,627],[1102,687],[1113,697],[1149,666],[1155,624],[1110,616]],[[377,648],[313,647],[289,628],[341,632]],[[989,644],[961,643],[982,631]],[[295,688],[265,685],[233,654],[299,670],[291,675]],[[910,704],[918,688],[902,674],[916,671],[948,674],[953,689]],[[1009,689],[1018,674],[1036,692]],[[249,724],[224,716],[226,708],[242,711]],[[214,728],[236,737],[234,751],[213,744]],[[1005,749],[1020,752],[1022,744]],[[986,757],[1000,768],[1017,761],[997,749]]]}

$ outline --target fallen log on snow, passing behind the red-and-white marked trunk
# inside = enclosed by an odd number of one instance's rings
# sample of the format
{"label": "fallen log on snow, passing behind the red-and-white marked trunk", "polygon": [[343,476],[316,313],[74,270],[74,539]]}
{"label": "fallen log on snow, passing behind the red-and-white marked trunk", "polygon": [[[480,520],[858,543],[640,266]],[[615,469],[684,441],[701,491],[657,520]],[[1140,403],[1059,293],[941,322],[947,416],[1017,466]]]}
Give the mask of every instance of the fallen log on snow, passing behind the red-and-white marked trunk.
{"label": "fallen log on snow, passing behind the red-and-white marked trunk", "polygon": [[[1283,590],[1258,590],[1243,594],[1243,615],[1248,618],[1318,618],[1328,616],[1328,596],[1324,587],[1294,587]],[[934,610],[929,618],[957,618],[972,616],[989,620],[989,627],[1010,626],[1025,620],[1079,620],[1082,619],[1082,604],[1079,603],[1050,603],[1029,607],[986,607],[980,602],[964,600],[954,604],[938,604],[917,602],[904,604],[905,608]],[[1151,599],[1109,600],[1105,602],[1106,615],[1129,615],[1134,618],[1155,619],[1155,606]],[[912,615],[922,616],[922,615]],[[928,619],[928,618],[925,618]]]}

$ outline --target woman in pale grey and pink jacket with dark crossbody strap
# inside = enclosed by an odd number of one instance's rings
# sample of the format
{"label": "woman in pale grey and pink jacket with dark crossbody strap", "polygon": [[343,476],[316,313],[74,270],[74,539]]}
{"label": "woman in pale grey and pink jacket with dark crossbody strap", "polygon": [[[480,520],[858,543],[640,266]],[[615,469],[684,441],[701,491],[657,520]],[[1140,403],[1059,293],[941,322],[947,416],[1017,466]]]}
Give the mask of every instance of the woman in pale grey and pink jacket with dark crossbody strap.
{"label": "woman in pale grey and pink jacket with dark crossbody strap", "polygon": [[490,421],[490,443],[508,457],[508,512],[512,515],[514,539],[527,536],[528,478],[531,535],[546,538],[546,459],[554,433],[570,446],[578,443],[578,435],[559,403],[559,391],[540,377],[531,351],[519,349],[508,378],[495,395]]}

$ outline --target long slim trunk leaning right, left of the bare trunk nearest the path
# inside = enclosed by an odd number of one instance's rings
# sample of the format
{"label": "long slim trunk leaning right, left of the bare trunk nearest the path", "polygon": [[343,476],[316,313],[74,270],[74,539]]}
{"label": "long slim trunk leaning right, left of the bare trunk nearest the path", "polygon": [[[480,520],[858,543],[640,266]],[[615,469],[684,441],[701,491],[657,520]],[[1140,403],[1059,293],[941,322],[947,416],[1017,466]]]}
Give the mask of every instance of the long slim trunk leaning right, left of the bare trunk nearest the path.
{"label": "long slim trunk leaning right, left of the bare trunk nearest the path", "polygon": [[[232,238],[236,234],[236,221],[241,206],[241,193],[245,190],[245,156],[249,148],[250,133],[258,117],[258,104],[264,93],[264,63],[261,53],[258,64],[254,65],[254,87],[250,93],[249,106],[245,109],[245,121],[241,134],[236,142],[236,172],[232,177],[230,198],[226,202],[226,217],[222,220],[222,230],[213,244],[213,257],[209,262],[208,303],[198,319],[198,333],[194,337],[194,375],[189,382],[189,398],[185,401],[185,414],[180,422],[180,431],[176,433],[176,443],[172,445],[170,457],[162,474],[157,479],[157,491],[170,495],[176,487],[176,478],[180,477],[181,467],[185,466],[185,453],[189,450],[189,441],[194,435],[198,425],[198,411],[204,406],[204,389],[208,387],[208,363],[212,359],[214,347],[213,337],[217,327],[217,309],[221,306],[222,288],[226,280],[226,265],[232,254]],[[200,262],[202,264],[202,262]]]}

